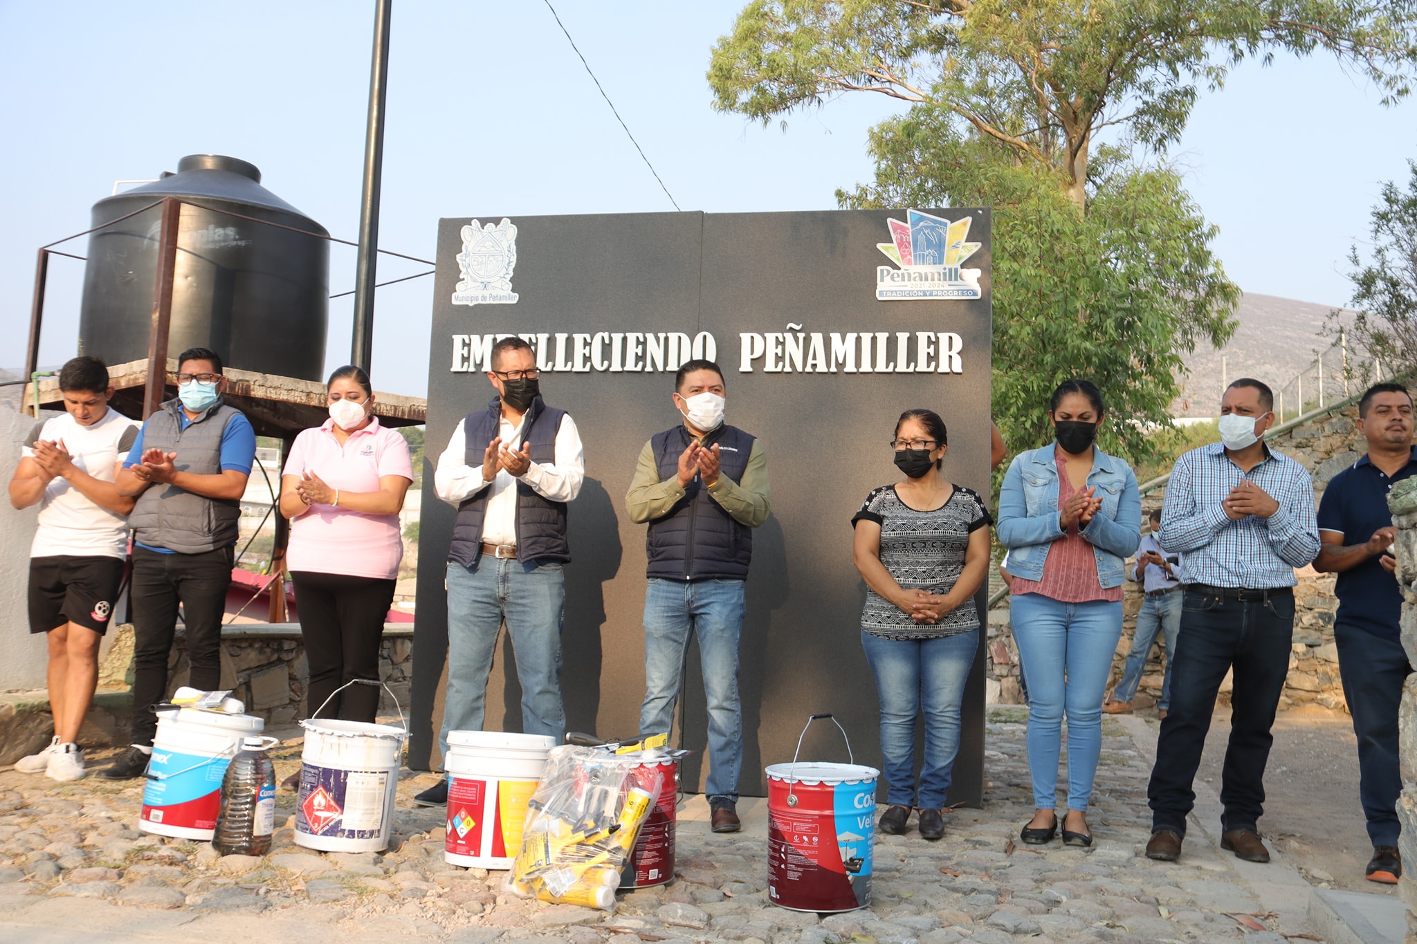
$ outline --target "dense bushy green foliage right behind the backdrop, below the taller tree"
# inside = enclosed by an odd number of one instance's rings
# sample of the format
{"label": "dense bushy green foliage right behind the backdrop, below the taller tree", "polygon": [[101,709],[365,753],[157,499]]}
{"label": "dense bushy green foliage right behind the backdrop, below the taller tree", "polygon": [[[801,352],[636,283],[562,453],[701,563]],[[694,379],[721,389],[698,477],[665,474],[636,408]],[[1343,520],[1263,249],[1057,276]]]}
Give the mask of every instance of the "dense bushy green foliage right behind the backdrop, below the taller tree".
{"label": "dense bushy green foliage right behind the backdrop, below the taller tree", "polygon": [[1153,454],[1146,429],[1180,393],[1180,354],[1224,344],[1238,289],[1180,178],[1100,151],[1085,215],[1054,171],[1003,160],[995,143],[917,105],[871,132],[876,183],[847,207],[993,207],[993,419],[1010,449],[1051,439],[1049,396],[1070,376],[1101,388],[1102,447]]}

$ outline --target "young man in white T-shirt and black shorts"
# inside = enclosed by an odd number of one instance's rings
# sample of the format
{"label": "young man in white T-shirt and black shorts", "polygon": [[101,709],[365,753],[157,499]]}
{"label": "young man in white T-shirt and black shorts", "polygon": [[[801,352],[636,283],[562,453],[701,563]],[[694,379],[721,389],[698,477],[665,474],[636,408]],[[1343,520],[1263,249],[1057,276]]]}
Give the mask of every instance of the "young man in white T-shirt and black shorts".
{"label": "young man in white T-shirt and black shorts", "polygon": [[30,631],[50,650],[54,739],[14,763],[27,774],[79,780],[84,752],[75,743],[98,685],[98,647],[123,582],[128,512],[133,500],[113,478],[137,437],[137,423],[108,405],[113,386],[96,357],[60,369],[64,412],[40,420],[10,480],[10,504],[40,504],[30,545]]}

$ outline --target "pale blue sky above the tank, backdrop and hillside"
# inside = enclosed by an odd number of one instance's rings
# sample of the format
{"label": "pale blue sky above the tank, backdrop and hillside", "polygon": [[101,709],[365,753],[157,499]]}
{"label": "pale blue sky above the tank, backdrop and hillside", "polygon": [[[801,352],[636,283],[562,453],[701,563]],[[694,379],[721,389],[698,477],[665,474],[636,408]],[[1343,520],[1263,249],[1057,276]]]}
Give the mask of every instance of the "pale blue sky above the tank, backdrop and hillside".
{"label": "pale blue sky above the tank, backdrop and hillside", "polygon": [[[869,180],[866,130],[900,103],[856,95],[784,132],[710,109],[704,69],[741,0],[553,0],[679,205],[819,209]],[[24,357],[37,246],[89,226],[115,180],[190,153],[264,184],[353,239],[373,0],[0,3],[0,365]],[[1247,292],[1340,304],[1345,256],[1380,183],[1417,157],[1417,105],[1384,109],[1332,59],[1246,65],[1204,95],[1172,157]],[[537,0],[395,0],[380,245],[431,258],[439,217],[672,209]],[[82,255],[84,241],[67,251]],[[336,248],[332,292],[353,287]],[[82,263],[57,259],[41,361],[74,354]],[[380,280],[417,272],[381,262]],[[432,280],[381,289],[374,384],[422,393]],[[350,299],[330,306],[329,368]]]}

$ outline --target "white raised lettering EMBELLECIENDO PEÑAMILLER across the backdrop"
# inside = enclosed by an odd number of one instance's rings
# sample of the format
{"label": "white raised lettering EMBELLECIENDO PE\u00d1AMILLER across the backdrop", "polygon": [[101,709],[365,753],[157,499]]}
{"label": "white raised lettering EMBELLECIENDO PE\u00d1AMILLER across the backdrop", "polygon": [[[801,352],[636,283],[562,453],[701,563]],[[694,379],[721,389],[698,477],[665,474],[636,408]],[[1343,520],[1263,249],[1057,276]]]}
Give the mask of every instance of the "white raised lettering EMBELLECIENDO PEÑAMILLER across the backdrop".
{"label": "white raised lettering EMBELLECIENDO PE\u00d1AMILLER across the backdrop", "polygon": [[[796,328],[799,326],[788,326]],[[492,369],[492,347],[512,334],[453,334],[449,371]],[[560,331],[517,334],[548,374],[673,374],[690,359],[718,359],[710,331]],[[962,374],[964,338],[954,331],[743,331],[738,372]]]}

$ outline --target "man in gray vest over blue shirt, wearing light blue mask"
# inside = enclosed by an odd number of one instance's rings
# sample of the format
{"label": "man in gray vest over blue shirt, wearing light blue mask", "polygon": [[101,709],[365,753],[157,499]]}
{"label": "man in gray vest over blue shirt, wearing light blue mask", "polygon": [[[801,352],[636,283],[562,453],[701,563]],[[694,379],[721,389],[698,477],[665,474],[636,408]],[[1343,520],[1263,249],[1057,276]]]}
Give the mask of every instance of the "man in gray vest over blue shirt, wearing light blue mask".
{"label": "man in gray vest over blue shirt, wearing light blue mask", "polygon": [[137,504],[133,529],[133,746],[102,773],[142,776],[167,693],[167,657],[181,604],[188,685],[221,685],[221,614],[241,519],[241,495],[256,456],[251,420],[227,406],[221,357],[207,348],[177,358],[177,399],[147,418],[118,473],[118,493]]}

